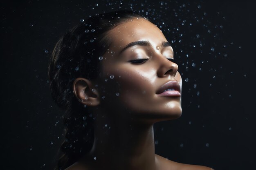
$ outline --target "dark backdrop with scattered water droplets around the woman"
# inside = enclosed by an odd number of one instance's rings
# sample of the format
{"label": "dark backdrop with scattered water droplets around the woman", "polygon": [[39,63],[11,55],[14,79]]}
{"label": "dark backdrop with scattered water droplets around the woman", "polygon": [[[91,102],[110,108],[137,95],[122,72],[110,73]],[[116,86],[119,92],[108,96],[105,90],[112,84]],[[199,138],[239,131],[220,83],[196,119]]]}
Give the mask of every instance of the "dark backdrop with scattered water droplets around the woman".
{"label": "dark backdrop with scattered water droplets around the woman", "polygon": [[180,119],[155,124],[156,153],[216,170],[256,162],[255,1],[1,1],[1,169],[51,170],[63,141],[47,64],[80,19],[119,9],[172,42],[183,77]]}

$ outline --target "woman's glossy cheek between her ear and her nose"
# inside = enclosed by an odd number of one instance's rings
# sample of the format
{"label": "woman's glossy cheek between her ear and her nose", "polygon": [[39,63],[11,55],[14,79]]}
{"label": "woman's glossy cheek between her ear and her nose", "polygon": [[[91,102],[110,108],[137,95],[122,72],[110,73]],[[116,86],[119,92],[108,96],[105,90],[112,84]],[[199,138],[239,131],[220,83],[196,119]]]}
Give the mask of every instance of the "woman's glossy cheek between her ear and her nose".
{"label": "woman's glossy cheek between her ear and her nose", "polygon": [[[137,67],[137,68],[136,68]],[[138,110],[141,105],[150,103],[150,99],[155,95],[156,71],[146,69],[141,66],[131,66],[122,64],[113,67],[115,70],[108,70],[108,75],[114,75],[113,79],[108,78],[106,91],[110,92],[108,96],[112,102],[117,103],[120,107],[129,108],[129,110]],[[116,94],[119,93],[117,97]],[[125,106],[125,107],[124,107]]]}

